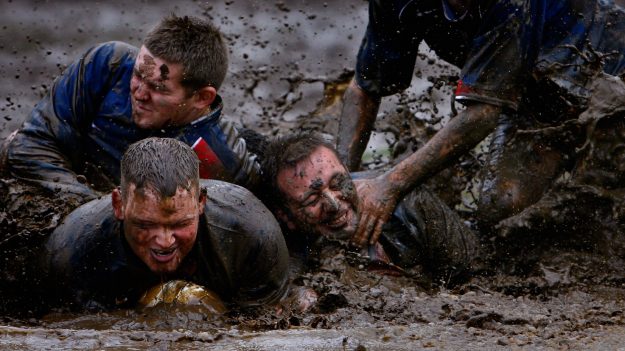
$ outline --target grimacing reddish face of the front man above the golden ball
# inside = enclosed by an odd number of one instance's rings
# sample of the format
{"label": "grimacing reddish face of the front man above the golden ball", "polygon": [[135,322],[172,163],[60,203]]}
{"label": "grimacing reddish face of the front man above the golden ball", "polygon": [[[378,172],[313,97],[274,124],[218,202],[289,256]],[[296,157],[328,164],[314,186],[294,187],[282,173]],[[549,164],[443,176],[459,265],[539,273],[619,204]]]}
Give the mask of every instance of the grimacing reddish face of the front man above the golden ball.
{"label": "grimacing reddish face of the front man above the golden ball", "polygon": [[126,198],[113,191],[115,217],[123,221],[124,235],[132,251],[152,272],[175,272],[193,248],[206,197],[178,188],[172,197],[156,191],[137,191],[130,184]]}

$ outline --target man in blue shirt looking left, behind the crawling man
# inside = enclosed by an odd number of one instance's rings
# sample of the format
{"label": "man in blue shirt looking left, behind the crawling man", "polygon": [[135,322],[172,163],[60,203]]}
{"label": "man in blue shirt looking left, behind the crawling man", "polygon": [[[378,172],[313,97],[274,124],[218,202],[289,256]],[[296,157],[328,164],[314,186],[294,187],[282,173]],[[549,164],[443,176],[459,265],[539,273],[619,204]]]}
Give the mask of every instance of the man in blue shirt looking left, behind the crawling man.
{"label": "man in blue shirt looking left, behind the crawling man", "polygon": [[119,184],[128,145],[158,136],[193,145],[202,178],[250,186],[258,162],[221,116],[227,52],[211,23],[175,15],[161,20],[141,48],[92,47],[7,139],[0,170],[82,203]]}

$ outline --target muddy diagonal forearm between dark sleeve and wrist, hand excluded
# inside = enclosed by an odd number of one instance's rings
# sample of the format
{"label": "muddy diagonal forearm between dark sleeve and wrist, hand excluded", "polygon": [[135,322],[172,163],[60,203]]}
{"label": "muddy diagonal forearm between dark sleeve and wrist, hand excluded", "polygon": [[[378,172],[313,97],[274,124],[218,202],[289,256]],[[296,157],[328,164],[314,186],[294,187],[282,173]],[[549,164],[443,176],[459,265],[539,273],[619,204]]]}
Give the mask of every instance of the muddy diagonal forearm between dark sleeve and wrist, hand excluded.
{"label": "muddy diagonal forearm between dark sleeve and wrist, hand excluded", "polygon": [[423,147],[382,176],[389,189],[395,189],[400,198],[427,177],[449,166],[493,131],[500,111],[499,107],[488,104],[469,106]]}

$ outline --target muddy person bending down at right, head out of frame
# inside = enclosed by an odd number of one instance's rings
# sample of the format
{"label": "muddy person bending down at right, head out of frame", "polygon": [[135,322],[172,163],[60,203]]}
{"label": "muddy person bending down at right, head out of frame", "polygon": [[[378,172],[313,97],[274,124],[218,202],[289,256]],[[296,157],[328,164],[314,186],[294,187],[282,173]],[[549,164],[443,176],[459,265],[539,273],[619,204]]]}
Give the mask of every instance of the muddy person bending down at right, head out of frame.
{"label": "muddy person bending down at right, head out of frame", "polygon": [[[593,82],[625,72],[623,30],[625,11],[612,0],[370,1],[338,132],[349,169],[360,165],[381,98],[409,86],[422,40],[462,68],[455,99],[466,109],[390,172],[357,182],[354,242],[375,242],[406,194],[493,131],[483,228],[539,200],[575,163]],[[552,133],[527,133],[541,129]]]}

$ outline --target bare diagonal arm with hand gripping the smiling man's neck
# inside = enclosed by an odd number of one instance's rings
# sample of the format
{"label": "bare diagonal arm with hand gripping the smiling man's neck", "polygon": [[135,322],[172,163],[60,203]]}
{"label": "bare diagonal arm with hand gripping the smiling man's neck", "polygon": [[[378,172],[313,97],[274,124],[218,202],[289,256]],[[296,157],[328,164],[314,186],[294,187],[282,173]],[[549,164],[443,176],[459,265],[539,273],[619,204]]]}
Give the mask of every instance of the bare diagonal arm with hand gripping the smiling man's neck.
{"label": "bare diagonal arm with hand gripping the smiling man's neck", "polygon": [[352,241],[375,243],[397,202],[482,141],[497,126],[501,108],[476,103],[451,119],[422,148],[388,172],[355,181],[360,198],[360,222]]}

